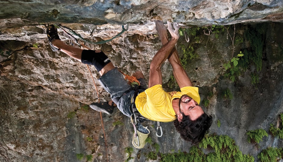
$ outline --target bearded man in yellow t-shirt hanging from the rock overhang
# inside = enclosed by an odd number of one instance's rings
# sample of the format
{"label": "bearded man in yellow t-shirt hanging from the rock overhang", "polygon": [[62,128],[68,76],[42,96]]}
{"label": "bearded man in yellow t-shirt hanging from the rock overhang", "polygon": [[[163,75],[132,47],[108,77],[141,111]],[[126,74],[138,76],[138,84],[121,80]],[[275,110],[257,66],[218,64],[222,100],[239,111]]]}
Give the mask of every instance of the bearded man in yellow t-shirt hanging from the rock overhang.
{"label": "bearded man in yellow t-shirt hanging from the rock overhang", "polygon": [[[192,86],[188,75],[180,63],[175,49],[175,44],[179,39],[179,26],[174,24],[174,30],[171,23],[167,23],[172,37],[171,40],[168,39],[167,29],[163,22],[156,21],[156,30],[160,35],[163,46],[151,61],[148,88],[145,85],[144,76],[141,72],[133,74],[140,82],[140,90],[136,91],[127,84],[123,75],[102,51],[82,50],[66,45],[60,40],[57,29],[53,25],[48,26],[46,33],[53,51],[59,50],[84,64],[95,66],[101,76],[99,82],[110,93],[112,101],[117,104],[117,107],[124,115],[131,116],[132,106],[135,106],[139,117],[160,122],[174,121],[176,130],[183,139],[197,143],[204,137],[205,132],[209,130],[212,117],[204,113],[198,105],[200,103],[198,88]],[[167,93],[162,88],[160,67],[166,59],[169,60],[173,67],[173,75],[181,92]],[[138,95],[137,92],[139,93]],[[114,107],[105,103],[93,103],[90,106],[94,110],[107,114],[111,114],[114,109]]]}

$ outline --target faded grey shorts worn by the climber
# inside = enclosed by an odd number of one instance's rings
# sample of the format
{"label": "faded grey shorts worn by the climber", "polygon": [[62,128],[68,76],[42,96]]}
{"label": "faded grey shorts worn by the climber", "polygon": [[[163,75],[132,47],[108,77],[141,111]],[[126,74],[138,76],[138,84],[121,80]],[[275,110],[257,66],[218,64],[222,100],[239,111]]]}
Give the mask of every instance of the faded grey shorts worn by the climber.
{"label": "faded grey shorts worn by the climber", "polygon": [[[118,109],[126,116],[131,116],[130,107],[132,105],[131,98],[134,90],[124,79],[123,74],[117,68],[108,71],[98,80],[103,88],[110,94],[112,101],[117,104]],[[138,79],[140,86],[147,88],[145,79]],[[144,90],[139,90],[142,92]]]}

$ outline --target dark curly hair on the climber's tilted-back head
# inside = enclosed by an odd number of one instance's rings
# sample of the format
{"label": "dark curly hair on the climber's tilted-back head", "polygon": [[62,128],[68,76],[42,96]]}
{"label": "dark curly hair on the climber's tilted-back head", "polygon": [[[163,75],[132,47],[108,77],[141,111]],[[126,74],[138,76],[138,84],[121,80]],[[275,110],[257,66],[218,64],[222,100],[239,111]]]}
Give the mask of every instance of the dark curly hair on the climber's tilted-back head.
{"label": "dark curly hair on the climber's tilted-back head", "polygon": [[183,118],[181,122],[179,122],[177,118],[175,119],[174,125],[176,130],[184,140],[197,144],[204,138],[204,134],[208,133],[212,124],[212,116],[203,113],[196,120],[191,120],[191,118],[184,115],[183,112],[180,113],[182,113]]}

